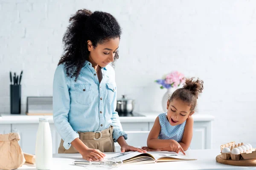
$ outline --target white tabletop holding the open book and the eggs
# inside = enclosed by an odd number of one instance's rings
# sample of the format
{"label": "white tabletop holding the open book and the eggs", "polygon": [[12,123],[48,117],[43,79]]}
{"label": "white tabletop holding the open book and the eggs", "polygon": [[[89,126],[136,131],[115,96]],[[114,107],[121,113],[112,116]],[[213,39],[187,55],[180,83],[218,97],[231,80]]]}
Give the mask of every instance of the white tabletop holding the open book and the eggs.
{"label": "white tabletop holding the open book and the eggs", "polygon": [[[156,164],[123,164],[113,170],[256,170],[256,167],[239,167],[216,162],[215,157],[220,154],[220,150],[188,150],[187,155],[196,157],[195,161],[173,161],[158,162]],[[80,154],[54,154],[52,170],[97,170],[96,167],[84,168],[74,165],[74,160],[81,160]],[[102,169],[102,168],[98,168]],[[35,165],[25,163],[19,170],[35,170]]]}

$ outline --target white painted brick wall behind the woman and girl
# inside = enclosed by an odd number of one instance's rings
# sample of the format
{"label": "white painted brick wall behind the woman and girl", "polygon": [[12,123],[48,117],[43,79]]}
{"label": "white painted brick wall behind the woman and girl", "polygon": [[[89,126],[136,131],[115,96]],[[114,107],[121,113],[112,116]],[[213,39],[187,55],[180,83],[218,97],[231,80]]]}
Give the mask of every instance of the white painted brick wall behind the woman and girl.
{"label": "white painted brick wall behind the woman and girl", "polygon": [[256,147],[256,1],[253,0],[0,0],[0,112],[9,112],[9,71],[26,96],[52,95],[61,40],[80,8],[113,14],[123,28],[116,62],[118,96],[136,111],[160,111],[169,71],[200,77],[200,114],[215,116],[213,147],[230,141]]}

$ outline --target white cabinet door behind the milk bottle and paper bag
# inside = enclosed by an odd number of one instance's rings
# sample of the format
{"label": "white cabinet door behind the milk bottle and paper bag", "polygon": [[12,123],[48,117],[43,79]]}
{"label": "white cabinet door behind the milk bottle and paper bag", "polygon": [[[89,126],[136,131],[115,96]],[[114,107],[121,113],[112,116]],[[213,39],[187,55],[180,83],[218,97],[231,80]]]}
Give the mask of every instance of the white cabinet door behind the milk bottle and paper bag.
{"label": "white cabinet door behind the milk bottle and paper bag", "polygon": [[[24,153],[35,154],[36,133],[39,124],[12,124],[12,132],[20,134],[20,147]],[[55,130],[54,124],[50,124],[52,134],[52,153],[58,153],[61,137]]]}

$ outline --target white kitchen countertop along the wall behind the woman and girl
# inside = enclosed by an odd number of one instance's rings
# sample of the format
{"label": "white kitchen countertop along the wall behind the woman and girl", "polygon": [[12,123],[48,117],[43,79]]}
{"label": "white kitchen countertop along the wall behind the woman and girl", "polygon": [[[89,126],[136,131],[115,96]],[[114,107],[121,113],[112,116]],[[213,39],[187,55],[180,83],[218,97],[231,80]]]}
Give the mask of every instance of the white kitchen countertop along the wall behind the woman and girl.
{"label": "white kitchen countertop along the wall behind the woman and girl", "polygon": [[[121,123],[135,123],[135,122],[154,122],[157,115],[161,112],[139,112],[145,116],[134,116],[134,117],[120,117]],[[39,123],[39,117],[48,117],[49,123],[53,123],[52,116],[28,116],[25,114],[15,115],[15,114],[3,114],[0,117],[0,124],[32,124]],[[2,118],[2,119],[1,119]],[[214,120],[214,117],[207,114],[196,113],[193,115],[195,122],[208,122]]]}

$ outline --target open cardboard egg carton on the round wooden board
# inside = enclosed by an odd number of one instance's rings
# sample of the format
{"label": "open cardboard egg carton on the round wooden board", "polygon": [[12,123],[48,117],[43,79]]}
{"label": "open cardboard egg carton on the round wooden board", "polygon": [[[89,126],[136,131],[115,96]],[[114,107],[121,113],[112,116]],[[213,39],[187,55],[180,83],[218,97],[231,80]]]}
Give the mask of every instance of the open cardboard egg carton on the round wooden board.
{"label": "open cardboard egg carton on the round wooden board", "polygon": [[241,159],[253,159],[256,158],[256,148],[251,148],[250,150],[246,150],[246,152],[240,152],[240,154],[232,154],[232,153],[222,153],[222,150],[225,147],[229,147],[230,151],[233,150],[233,148],[239,147],[244,145],[242,142],[241,144],[235,144],[235,142],[229,142],[227,144],[221,145],[221,155],[223,159],[232,159],[232,160],[241,160]]}

